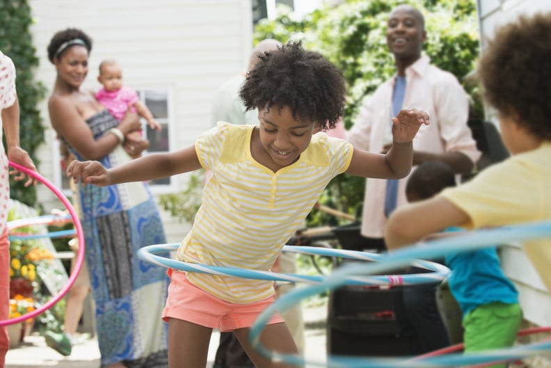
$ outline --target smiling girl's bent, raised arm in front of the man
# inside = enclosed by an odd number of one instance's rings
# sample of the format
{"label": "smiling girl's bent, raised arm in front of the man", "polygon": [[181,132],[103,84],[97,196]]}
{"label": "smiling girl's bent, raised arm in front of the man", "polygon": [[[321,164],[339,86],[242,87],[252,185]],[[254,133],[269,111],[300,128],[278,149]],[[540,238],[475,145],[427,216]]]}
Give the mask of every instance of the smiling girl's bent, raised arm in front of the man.
{"label": "smiling girl's bent, raised arm in front of the man", "polygon": [[406,177],[413,163],[413,138],[422,125],[429,125],[429,115],[417,109],[402,110],[392,118],[392,147],[386,154],[354,149],[346,173],[378,179]]}

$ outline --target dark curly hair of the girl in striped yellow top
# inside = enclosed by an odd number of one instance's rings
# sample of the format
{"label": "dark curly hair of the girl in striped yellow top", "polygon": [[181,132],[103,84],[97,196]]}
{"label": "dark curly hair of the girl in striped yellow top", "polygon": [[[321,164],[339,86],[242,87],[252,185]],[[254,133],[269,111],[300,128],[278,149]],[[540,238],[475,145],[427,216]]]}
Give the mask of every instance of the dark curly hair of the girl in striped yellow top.
{"label": "dark curly hair of the girl in striped yellow top", "polygon": [[289,42],[259,56],[239,93],[247,110],[289,106],[294,118],[321,129],[335,127],[344,109],[346,86],[340,70],[318,52]]}

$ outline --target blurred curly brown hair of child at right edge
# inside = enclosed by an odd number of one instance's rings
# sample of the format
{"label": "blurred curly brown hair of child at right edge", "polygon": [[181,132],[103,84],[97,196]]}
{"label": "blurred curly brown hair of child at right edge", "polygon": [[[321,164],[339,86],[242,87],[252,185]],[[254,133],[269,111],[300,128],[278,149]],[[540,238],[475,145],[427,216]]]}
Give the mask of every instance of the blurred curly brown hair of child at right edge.
{"label": "blurred curly brown hair of child at right edge", "polygon": [[484,97],[534,136],[551,140],[551,13],[522,15],[495,33],[479,61]]}

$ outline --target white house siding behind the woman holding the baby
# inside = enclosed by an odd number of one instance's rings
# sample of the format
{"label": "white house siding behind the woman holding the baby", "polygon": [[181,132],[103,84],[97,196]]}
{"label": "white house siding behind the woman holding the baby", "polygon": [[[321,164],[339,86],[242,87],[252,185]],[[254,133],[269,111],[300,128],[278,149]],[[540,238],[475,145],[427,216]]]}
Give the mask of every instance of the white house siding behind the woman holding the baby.
{"label": "white house siding behind the woman holding the baby", "polygon": [[[35,74],[49,91],[54,66],[47,45],[56,31],[76,27],[93,38],[86,87],[97,90],[97,67],[104,58],[116,58],[125,83],[134,88],[169,88],[177,127],[170,135],[173,149],[193,145],[210,125],[211,97],[218,86],[243,70],[252,48],[250,0],[31,0],[35,23],[33,42],[40,58]],[[38,152],[40,173],[57,181],[54,162],[55,132],[49,124],[47,102],[40,104],[47,131]],[[186,186],[186,175],[176,179],[176,190]],[[46,209],[60,203],[45,187],[38,189]],[[178,242],[189,224],[163,213],[169,242]]]}

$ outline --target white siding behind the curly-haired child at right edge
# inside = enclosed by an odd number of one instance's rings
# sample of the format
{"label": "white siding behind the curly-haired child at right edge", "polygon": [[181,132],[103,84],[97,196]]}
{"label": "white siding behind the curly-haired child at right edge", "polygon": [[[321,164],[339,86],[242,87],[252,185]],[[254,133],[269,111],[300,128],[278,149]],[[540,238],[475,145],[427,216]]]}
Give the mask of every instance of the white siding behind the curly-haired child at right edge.
{"label": "white siding behind the curly-haired child at right edge", "polygon": [[[541,0],[478,0],[481,31],[481,47],[495,34],[497,27],[514,21],[521,14],[551,11],[551,1]],[[490,111],[488,118],[497,121]],[[508,244],[501,250],[502,266],[506,275],[513,280],[520,293],[520,304],[527,326],[551,326],[551,294],[543,285],[538,273],[527,259],[519,244]],[[533,335],[529,341],[543,339],[544,335]],[[530,367],[551,367],[551,360],[536,358]]]}

